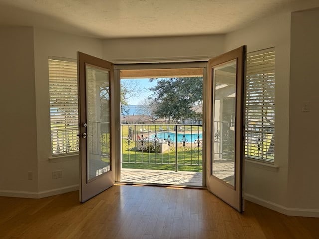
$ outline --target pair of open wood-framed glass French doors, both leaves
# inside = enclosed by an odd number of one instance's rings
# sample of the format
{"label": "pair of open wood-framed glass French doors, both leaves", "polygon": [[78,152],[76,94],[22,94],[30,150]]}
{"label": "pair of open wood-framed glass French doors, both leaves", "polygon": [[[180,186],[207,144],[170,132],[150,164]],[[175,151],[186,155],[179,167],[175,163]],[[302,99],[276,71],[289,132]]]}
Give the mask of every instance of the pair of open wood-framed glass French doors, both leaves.
{"label": "pair of open wood-framed glass French doors, both leaves", "polygon": [[[206,185],[239,212],[243,205],[243,125],[246,46],[208,62],[205,82]],[[85,202],[115,182],[119,160],[120,115],[113,99],[113,64],[78,52],[81,186]],[[118,99],[119,101],[119,99]],[[112,104],[111,104],[112,103]],[[111,113],[114,113],[113,115]],[[113,140],[113,141],[112,141]],[[119,178],[119,176],[117,175]]]}

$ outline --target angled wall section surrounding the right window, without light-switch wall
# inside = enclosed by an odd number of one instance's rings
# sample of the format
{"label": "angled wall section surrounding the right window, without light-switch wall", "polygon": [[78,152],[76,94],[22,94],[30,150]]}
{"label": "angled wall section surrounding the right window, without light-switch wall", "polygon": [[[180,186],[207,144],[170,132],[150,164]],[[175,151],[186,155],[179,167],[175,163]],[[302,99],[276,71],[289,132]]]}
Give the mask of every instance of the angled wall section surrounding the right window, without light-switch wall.
{"label": "angled wall section surrounding the right window, without light-switch wall", "polygon": [[[281,13],[227,34],[225,50],[247,45],[248,52],[275,47],[275,164],[278,169],[246,161],[246,197],[260,204],[286,206],[289,135],[290,13]],[[268,203],[269,202],[269,203]]]}

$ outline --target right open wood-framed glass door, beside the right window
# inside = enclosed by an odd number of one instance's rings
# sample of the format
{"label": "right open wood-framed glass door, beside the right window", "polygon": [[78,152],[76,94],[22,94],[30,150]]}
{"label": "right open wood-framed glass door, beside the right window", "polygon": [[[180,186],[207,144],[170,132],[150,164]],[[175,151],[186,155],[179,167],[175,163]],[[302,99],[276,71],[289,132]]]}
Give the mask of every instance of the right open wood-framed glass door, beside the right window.
{"label": "right open wood-framed glass door, beside the right window", "polygon": [[244,211],[243,141],[246,46],[208,63],[207,188],[217,197]]}

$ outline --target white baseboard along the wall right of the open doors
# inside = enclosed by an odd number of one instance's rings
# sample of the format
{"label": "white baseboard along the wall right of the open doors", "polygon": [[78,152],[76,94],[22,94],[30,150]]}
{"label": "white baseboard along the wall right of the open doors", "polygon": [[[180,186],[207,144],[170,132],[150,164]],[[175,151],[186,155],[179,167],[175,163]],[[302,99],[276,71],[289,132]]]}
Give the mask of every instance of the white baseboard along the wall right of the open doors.
{"label": "white baseboard along the wall right of the open doors", "polygon": [[245,199],[259,204],[263,207],[269,208],[276,212],[285,214],[287,216],[301,216],[301,217],[315,217],[319,218],[319,209],[309,209],[309,208],[288,208],[283,205],[273,203],[261,198],[258,198],[254,195],[245,193]]}

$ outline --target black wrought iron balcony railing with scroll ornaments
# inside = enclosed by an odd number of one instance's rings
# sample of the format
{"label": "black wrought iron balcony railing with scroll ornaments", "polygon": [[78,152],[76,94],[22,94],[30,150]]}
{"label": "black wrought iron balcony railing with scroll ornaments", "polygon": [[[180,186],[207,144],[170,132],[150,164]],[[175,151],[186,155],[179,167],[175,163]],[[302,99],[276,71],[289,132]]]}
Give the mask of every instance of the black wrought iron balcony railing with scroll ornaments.
{"label": "black wrought iron balcony railing with scroll ornaments", "polygon": [[197,167],[198,171],[202,167],[202,125],[123,124],[121,130],[121,163],[126,168],[162,165],[158,169]]}

